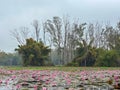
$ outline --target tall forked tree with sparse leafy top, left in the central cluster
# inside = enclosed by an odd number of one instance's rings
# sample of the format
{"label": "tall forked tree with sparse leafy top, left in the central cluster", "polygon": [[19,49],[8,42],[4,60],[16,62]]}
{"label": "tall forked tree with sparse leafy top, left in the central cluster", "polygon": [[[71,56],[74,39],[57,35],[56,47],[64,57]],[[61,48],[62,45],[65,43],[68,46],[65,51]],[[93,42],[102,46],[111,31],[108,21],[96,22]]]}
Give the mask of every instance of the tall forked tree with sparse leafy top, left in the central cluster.
{"label": "tall forked tree with sparse leafy top, left in the central cluster", "polygon": [[51,37],[53,45],[57,48],[59,64],[62,64],[62,20],[59,17],[53,17],[53,20],[46,21],[46,30]]}

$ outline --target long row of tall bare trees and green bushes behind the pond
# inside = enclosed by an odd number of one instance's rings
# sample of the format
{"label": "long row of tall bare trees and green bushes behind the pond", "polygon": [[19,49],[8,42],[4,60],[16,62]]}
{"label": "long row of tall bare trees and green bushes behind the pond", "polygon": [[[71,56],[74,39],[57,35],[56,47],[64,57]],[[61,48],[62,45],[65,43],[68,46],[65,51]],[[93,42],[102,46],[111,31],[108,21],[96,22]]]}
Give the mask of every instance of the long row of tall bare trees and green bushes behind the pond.
{"label": "long row of tall bare trees and green bushes behind the pond", "polygon": [[66,16],[42,25],[35,20],[32,26],[12,32],[25,66],[45,65],[47,60],[50,65],[120,66],[120,22],[113,27],[79,23]]}

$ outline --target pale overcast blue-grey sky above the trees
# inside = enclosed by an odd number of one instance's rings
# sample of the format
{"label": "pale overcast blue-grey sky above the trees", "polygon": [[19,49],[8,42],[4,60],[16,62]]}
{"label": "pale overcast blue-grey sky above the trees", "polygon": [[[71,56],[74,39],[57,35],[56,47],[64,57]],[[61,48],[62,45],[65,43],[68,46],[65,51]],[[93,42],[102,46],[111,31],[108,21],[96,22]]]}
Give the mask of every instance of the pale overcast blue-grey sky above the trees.
{"label": "pale overcast blue-grey sky above the trees", "polygon": [[81,22],[120,20],[120,0],[0,0],[0,50],[14,52],[18,42],[10,32],[53,16],[79,18]]}

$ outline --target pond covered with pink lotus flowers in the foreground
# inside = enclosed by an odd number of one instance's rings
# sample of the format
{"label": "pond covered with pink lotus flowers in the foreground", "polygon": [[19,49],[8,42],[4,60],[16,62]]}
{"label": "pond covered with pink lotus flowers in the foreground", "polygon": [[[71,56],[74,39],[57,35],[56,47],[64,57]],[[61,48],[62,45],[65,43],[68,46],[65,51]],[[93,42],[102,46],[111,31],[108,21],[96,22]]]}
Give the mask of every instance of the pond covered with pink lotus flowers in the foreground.
{"label": "pond covered with pink lotus flowers in the foreground", "polygon": [[1,67],[0,90],[120,90],[120,68]]}

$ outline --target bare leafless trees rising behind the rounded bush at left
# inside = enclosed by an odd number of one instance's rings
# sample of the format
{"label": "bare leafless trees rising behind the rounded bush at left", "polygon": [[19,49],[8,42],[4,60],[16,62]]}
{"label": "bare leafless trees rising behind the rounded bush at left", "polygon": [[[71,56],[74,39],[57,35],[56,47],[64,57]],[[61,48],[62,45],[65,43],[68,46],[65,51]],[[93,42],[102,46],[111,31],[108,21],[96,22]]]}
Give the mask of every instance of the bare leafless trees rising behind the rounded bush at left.
{"label": "bare leafless trees rising behind the rounded bush at left", "polygon": [[42,37],[40,37],[40,24],[38,20],[34,20],[32,26],[34,28],[32,31],[30,31],[28,27],[20,27],[19,29],[14,29],[10,33],[20,45],[24,45],[28,38],[33,38],[39,42]]}

